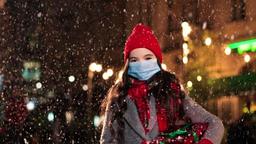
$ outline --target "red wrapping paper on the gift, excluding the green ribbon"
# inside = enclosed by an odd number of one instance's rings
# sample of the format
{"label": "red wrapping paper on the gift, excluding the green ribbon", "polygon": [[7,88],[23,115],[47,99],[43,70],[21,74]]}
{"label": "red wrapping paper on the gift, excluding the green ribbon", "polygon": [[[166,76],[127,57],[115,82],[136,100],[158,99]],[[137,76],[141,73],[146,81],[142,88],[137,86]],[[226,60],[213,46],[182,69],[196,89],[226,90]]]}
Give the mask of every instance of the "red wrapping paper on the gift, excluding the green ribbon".
{"label": "red wrapping paper on the gift, excluding the green ribbon", "polygon": [[[168,128],[168,130],[166,130],[164,134],[172,133],[172,132],[177,131],[177,130],[181,130],[183,127],[185,127],[185,125],[174,125],[173,127]],[[195,133],[196,136],[199,137],[199,140],[200,140],[208,127],[209,127],[209,123],[193,123],[188,128],[185,129],[185,131],[187,131],[186,134],[176,135],[173,139],[170,139],[170,140],[166,141],[165,144],[169,144],[169,143],[175,143],[175,144],[195,143],[195,141],[194,141],[195,137],[194,137],[193,133]],[[156,144],[156,143],[164,142],[166,139],[168,139],[168,137],[170,137],[170,136],[169,135],[158,136],[154,140],[152,140],[150,142],[150,144]]]}

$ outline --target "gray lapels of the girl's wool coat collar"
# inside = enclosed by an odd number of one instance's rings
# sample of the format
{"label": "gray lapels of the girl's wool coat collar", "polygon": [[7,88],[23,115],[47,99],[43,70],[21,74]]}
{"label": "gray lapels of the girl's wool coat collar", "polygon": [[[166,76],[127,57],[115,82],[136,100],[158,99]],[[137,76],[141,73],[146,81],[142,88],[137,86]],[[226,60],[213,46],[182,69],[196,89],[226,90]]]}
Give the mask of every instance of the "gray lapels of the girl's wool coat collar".
{"label": "gray lapels of the girl's wool coat collar", "polygon": [[[155,124],[158,124],[158,119],[156,116],[156,109],[155,109],[155,98],[153,95],[150,95],[149,99],[149,109],[150,109],[150,118],[147,129],[149,129],[147,135],[145,134],[145,130],[141,124],[141,121],[139,121],[138,116],[138,110],[136,105],[133,103],[133,101],[130,98],[130,95],[127,95],[126,98],[127,103],[127,111],[125,112],[124,118],[125,121],[130,125],[130,127],[138,134],[140,135],[144,140],[150,141],[154,137],[150,137],[149,135],[152,135],[150,133],[158,133],[158,131],[152,131]],[[157,134],[156,134],[157,135]]]}

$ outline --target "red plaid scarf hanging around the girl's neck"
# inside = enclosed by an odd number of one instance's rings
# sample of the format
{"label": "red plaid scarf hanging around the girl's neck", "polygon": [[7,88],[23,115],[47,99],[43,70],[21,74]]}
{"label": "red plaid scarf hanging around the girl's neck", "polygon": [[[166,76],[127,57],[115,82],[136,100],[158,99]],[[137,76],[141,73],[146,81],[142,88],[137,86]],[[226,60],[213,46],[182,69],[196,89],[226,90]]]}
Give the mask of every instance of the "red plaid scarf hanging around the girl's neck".
{"label": "red plaid scarf hanging around the girl's neck", "polygon": [[[145,129],[147,134],[148,122],[150,118],[150,110],[149,110],[149,95],[147,94],[148,90],[151,89],[152,82],[154,80],[154,76],[148,81],[143,80],[135,80],[130,78],[129,82],[131,83],[131,87],[128,90],[128,94],[130,95],[133,103],[135,103],[138,109],[139,119]],[[178,94],[179,89],[176,83],[171,83],[171,92],[175,92]],[[164,98],[164,97],[160,97]],[[173,125],[176,119],[179,116],[179,106],[181,102],[179,99],[171,99],[171,115],[166,112],[166,109],[161,106],[159,100],[156,99],[156,114],[158,117],[158,125],[159,125],[159,133],[167,130],[168,127]]]}

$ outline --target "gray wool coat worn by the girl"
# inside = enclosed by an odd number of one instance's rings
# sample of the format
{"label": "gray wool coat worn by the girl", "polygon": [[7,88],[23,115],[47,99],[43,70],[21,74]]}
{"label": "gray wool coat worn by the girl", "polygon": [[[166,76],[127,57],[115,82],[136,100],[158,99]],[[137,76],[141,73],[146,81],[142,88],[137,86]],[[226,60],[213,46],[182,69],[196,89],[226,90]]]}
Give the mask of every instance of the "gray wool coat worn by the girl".
{"label": "gray wool coat worn by the girl", "polygon": [[[143,140],[151,141],[158,136],[158,120],[156,117],[156,108],[155,108],[155,98],[153,95],[150,96],[149,100],[149,109],[150,109],[150,119],[148,128],[149,132],[145,134],[144,128],[139,121],[138,110],[136,105],[130,98],[130,95],[126,97],[127,103],[127,111],[124,115],[125,119],[125,129],[124,129],[124,137],[125,143],[141,143]],[[200,105],[196,104],[193,99],[191,99],[188,95],[185,95],[183,100],[184,112],[191,118],[192,123],[199,122],[208,122],[210,126],[207,131],[203,135],[203,138],[207,138],[212,141],[214,144],[218,144],[222,141],[224,127],[220,119],[211,113],[207,112]],[[109,139],[111,137],[111,133],[108,127],[108,123],[110,118],[112,117],[112,112],[107,107],[105,117],[103,119],[103,128],[101,134],[101,143],[109,143]],[[117,123],[113,123],[113,128],[117,128]],[[117,141],[113,141],[112,143],[118,143]]]}

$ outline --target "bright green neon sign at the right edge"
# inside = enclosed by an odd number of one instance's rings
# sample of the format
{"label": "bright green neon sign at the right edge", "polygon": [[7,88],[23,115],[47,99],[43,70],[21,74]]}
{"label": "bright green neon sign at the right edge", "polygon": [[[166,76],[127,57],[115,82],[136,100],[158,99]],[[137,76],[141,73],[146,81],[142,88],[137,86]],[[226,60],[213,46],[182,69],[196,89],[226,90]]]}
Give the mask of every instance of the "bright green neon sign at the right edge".
{"label": "bright green neon sign at the right edge", "polygon": [[241,41],[238,43],[229,44],[230,49],[237,49],[237,52],[241,55],[245,51],[251,50],[254,52],[256,50],[256,39]]}

